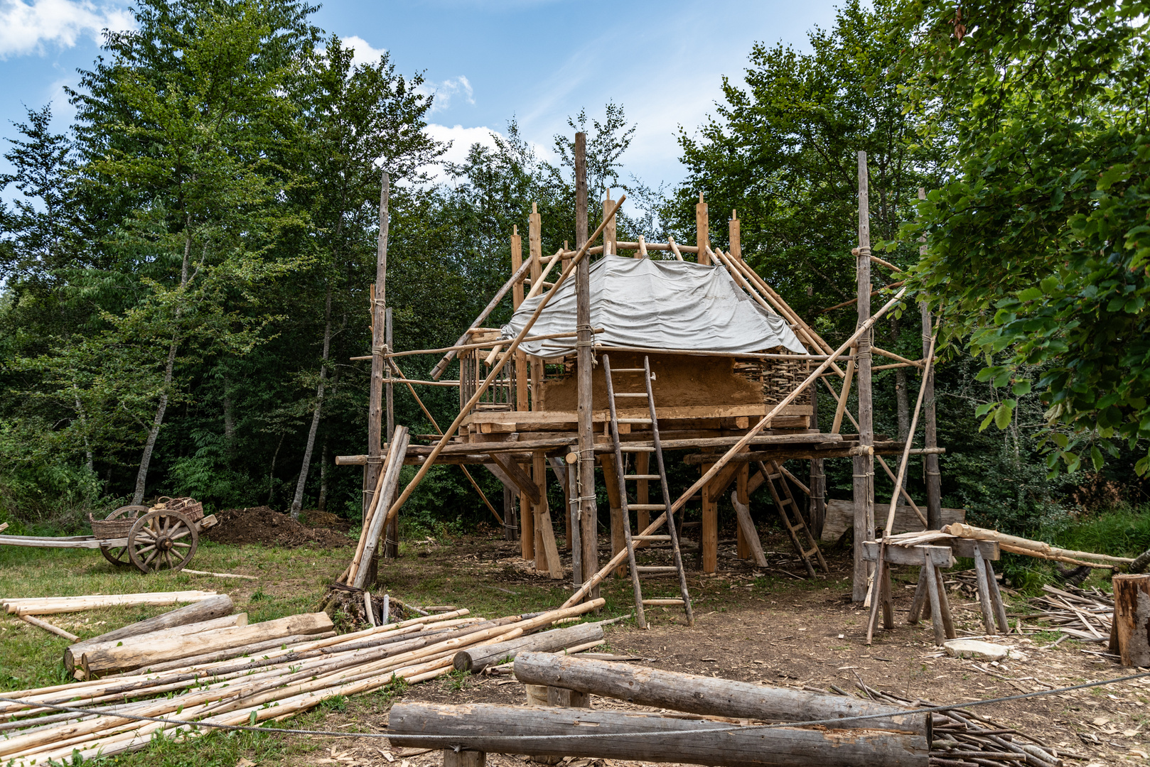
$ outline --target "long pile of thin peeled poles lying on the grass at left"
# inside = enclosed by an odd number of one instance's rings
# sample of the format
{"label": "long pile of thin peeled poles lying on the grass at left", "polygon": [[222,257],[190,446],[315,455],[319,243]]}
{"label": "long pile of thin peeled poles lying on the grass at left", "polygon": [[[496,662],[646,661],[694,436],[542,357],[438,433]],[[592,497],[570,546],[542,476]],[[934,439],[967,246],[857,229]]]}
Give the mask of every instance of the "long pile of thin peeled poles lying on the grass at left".
{"label": "long pile of thin peeled poles lying on the grass at left", "polygon": [[[534,616],[490,621],[458,609],[276,649],[251,651],[250,646],[227,660],[183,659],[163,670],[153,667],[7,692],[0,695],[0,761],[31,767],[48,760],[70,761],[74,753],[82,759],[107,757],[143,749],[158,733],[191,738],[208,731],[210,724],[279,721],[334,696],[370,692],[396,680],[414,683],[442,676],[451,670],[460,650],[507,642],[603,605],[603,599],[596,599]],[[51,705],[80,711],[60,712]],[[122,714],[167,721],[131,720]]]}

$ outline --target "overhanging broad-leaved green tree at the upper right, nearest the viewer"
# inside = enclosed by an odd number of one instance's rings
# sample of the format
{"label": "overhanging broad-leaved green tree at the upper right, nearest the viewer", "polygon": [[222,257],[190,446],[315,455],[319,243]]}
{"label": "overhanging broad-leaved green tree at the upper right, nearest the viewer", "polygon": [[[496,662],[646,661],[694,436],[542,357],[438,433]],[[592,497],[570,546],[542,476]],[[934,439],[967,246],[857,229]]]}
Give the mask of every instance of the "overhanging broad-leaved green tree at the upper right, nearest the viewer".
{"label": "overhanging broad-leaved green tree at the upper right, nearest the viewer", "polygon": [[[907,240],[929,238],[915,287],[946,338],[1007,396],[977,409],[1007,428],[1032,385],[1048,468],[1150,436],[1150,26],[1147,2],[918,0],[907,66],[922,140],[945,136],[945,184]],[[945,121],[945,126],[940,125]],[[1023,374],[1038,366],[1034,384]],[[1145,474],[1150,457],[1136,470]]]}

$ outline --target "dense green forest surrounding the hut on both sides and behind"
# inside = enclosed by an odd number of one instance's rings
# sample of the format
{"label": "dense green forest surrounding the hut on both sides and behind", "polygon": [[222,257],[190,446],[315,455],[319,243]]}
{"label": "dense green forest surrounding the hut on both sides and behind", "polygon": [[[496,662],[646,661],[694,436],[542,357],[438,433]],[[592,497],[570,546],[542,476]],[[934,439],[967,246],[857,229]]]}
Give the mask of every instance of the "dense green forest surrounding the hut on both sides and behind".
{"label": "dense green forest surrounding the hut on both sides and behind", "polygon": [[[634,204],[621,239],[692,243],[703,193],[726,246],[737,209],[744,258],[833,344],[854,327],[853,307],[825,309],[856,294],[866,151],[876,252],[910,273],[879,269],[876,287],[906,277],[914,297],[876,340],[918,359],[915,300],[940,317],[943,505],[1048,539],[1102,515],[1117,522],[1096,549],[1150,549],[1147,2],[846,1],[808,53],[749,52],[708,122],[680,126],[673,187],[626,175],[619,103],[574,114],[553,162],[511,116],[493,148],[432,182],[445,147],[423,130],[420,62],[353,66],[314,11],[139,2],[138,29],[106,33],[70,92],[69,131],[46,107],[8,131],[0,522],[14,532],[158,496],[359,519],[360,471],[334,457],[366,446],[369,368],[350,358],[370,345],[382,170],[394,346],[446,346],[511,274],[532,205],[544,251],[574,240],[584,130],[592,198]],[[486,324],[509,314],[508,299]],[[415,378],[435,361],[402,360]],[[906,369],[876,375],[876,431],[905,438],[918,386]],[[451,421],[454,390],[420,394]],[[402,389],[396,422],[432,431]],[[828,496],[849,498],[850,462],[827,474]],[[499,483],[476,476],[498,507]],[[692,478],[673,467],[673,485]],[[432,469],[401,519],[409,534],[491,521],[457,467]]]}

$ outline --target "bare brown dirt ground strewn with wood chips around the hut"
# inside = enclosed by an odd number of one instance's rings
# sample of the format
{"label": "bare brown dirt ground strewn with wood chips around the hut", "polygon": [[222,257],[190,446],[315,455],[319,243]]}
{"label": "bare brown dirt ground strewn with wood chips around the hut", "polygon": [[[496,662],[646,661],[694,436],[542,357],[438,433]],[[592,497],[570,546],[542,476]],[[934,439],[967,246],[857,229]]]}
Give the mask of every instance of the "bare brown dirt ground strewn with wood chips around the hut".
{"label": "bare brown dirt ground strewn with wood chips around the hut", "polygon": [[[865,682],[883,691],[937,704],[1071,687],[1137,672],[1098,654],[1102,645],[1061,642],[1051,646],[1058,636],[1053,634],[999,637],[996,642],[1013,649],[1012,658],[1002,662],[946,657],[933,644],[929,622],[906,624],[917,578],[908,568],[896,574],[896,628],[880,630],[874,644],[867,646],[865,611],[850,600],[849,553],[830,552],[829,576],[812,582],[793,575],[802,568],[789,554],[770,553],[770,567],[757,569],[736,559],[733,543],[720,547],[718,575],[691,574],[693,627],[684,624],[681,608],[649,608],[647,630],[638,630],[629,622],[606,629],[608,651],[637,655],[641,660],[629,662],[653,668],[797,689],[830,691],[830,685],[837,685],[856,692],[856,683]],[[764,544],[766,549],[787,550],[782,540],[769,537]],[[606,551],[606,540],[601,551]],[[428,540],[414,557],[382,567],[381,573],[383,586],[391,588],[393,593],[396,586],[417,580],[417,573],[432,580],[442,577],[436,573],[451,573],[452,583],[473,583],[475,593],[485,591],[483,586],[523,596],[534,586],[554,588],[554,582],[536,575],[518,557],[518,544],[490,537],[455,540],[446,546]],[[652,586],[649,596],[672,596],[673,582],[665,581],[665,585]],[[569,586],[566,589],[569,591]],[[626,611],[629,590],[627,580],[606,584],[608,609],[615,605]],[[651,593],[660,590],[662,593]],[[454,604],[467,606],[466,596],[458,588],[453,591]],[[447,595],[440,598],[450,601]],[[951,592],[950,600],[959,635],[980,636],[976,603],[958,591]],[[508,676],[452,676],[413,685],[399,699],[521,704],[524,693],[522,685]],[[1143,678],[991,704],[975,711],[1058,749],[1070,760],[1066,764],[1101,767],[1150,760],[1148,704],[1150,678]],[[330,713],[324,727],[383,731],[389,705],[350,701],[345,711]],[[600,698],[592,698],[592,706],[635,708]],[[437,752],[405,756],[404,750],[390,750],[383,741],[332,738],[322,745],[324,756],[309,759],[308,764],[384,765],[392,760],[394,767],[440,764]],[[511,767],[527,759],[491,754],[489,764]],[[592,760],[569,759],[566,764],[584,767],[592,765]]]}

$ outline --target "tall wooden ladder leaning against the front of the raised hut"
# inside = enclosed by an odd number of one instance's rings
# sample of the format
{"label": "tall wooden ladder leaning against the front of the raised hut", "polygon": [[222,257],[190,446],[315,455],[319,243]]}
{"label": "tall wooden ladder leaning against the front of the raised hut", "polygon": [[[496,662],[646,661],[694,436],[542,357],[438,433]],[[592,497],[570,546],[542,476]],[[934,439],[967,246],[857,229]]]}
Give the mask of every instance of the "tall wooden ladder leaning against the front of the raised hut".
{"label": "tall wooden ladder leaning against the front of the raised hut", "polygon": [[[608,355],[603,355],[603,370],[607,379],[607,404],[611,407],[611,439],[615,448],[615,476],[619,481],[619,501],[622,506],[622,517],[623,517],[623,538],[627,545],[627,563],[630,566],[631,570],[631,584],[635,586],[635,619],[641,629],[646,628],[646,615],[643,612],[644,605],[682,605],[683,612],[687,613],[687,624],[695,626],[695,613],[691,612],[691,596],[687,592],[687,572],[683,569],[683,557],[678,550],[678,531],[675,529],[674,520],[670,517],[668,501],[670,499],[670,490],[667,488],[667,470],[662,463],[662,447],[659,443],[659,422],[656,419],[654,413],[654,393],[651,389],[651,379],[654,378],[651,375],[651,362],[650,359],[643,358],[642,368],[616,368],[611,369],[611,359]],[[612,376],[614,374],[643,374],[643,378],[646,383],[645,392],[616,392],[614,381]],[[618,408],[615,407],[616,399],[646,399],[647,411],[650,413],[649,417],[645,419],[620,419],[618,414]],[[619,439],[619,424],[650,424],[651,425],[651,440],[652,447],[639,446],[639,445],[626,445]],[[658,474],[626,474],[623,463],[623,453],[654,453],[656,467],[658,468]],[[628,481],[639,481],[639,480],[658,480],[659,486],[662,490],[661,504],[628,504],[627,501],[627,482]],[[631,515],[630,509],[637,512],[664,512],[664,526],[667,528],[667,535],[631,535]],[[635,544],[653,543],[653,542],[670,542],[670,551],[674,555],[675,563],[673,566],[639,566],[635,563]],[[644,599],[643,598],[643,586],[639,583],[639,578],[644,575],[662,575],[667,573],[678,574],[678,591],[681,595],[680,599]]]}

